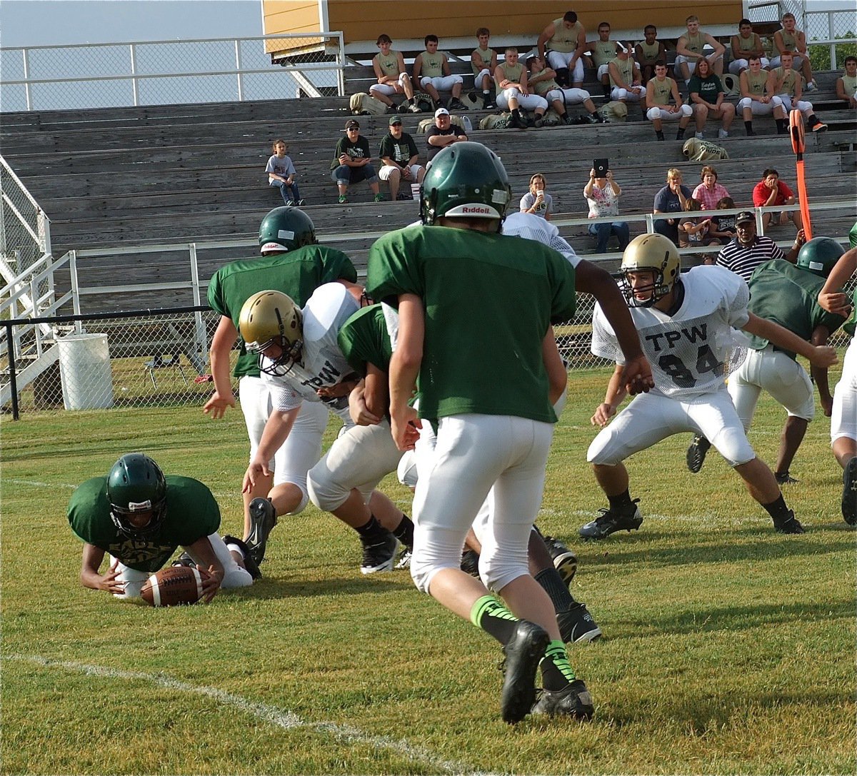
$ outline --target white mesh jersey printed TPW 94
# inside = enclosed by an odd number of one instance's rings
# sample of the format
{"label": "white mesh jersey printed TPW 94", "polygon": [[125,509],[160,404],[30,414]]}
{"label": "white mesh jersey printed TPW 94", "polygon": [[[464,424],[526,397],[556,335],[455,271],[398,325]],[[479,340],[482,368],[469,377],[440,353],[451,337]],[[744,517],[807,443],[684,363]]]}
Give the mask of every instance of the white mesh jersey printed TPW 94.
{"label": "white mesh jersey printed TPW 94", "polygon": [[[681,282],[685,298],[673,316],[654,307],[631,307],[655,378],[652,392],[672,398],[701,396],[725,387],[734,329],[743,328],[750,319],[750,290],[734,272],[698,266],[682,274]],[[599,305],[592,316],[592,353],[618,364],[625,361]]]}

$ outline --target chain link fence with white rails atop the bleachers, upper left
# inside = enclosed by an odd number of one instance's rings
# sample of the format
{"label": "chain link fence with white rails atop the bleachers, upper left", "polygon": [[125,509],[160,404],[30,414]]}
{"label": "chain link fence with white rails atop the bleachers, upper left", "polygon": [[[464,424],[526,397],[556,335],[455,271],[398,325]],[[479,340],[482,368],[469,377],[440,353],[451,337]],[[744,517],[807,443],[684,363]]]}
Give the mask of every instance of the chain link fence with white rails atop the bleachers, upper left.
{"label": "chain link fence with white rails atop the bleachers, upper left", "polygon": [[0,48],[3,111],[342,95],[341,33]]}

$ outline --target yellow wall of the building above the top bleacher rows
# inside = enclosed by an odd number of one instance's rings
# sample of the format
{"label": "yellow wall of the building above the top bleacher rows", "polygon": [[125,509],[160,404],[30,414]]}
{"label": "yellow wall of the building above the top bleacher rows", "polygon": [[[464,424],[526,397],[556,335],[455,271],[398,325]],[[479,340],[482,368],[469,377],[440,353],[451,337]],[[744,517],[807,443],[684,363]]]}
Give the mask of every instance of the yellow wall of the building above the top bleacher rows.
{"label": "yellow wall of the building above the top bleacher rows", "polygon": [[[700,26],[729,25],[737,29],[743,15],[740,0],[325,0],[329,30],[342,30],[345,43],[375,42],[379,33],[395,39],[419,39],[428,33],[440,38],[473,37],[476,27],[492,35],[531,35],[535,39],[552,20],[574,10],[587,31],[599,21],[617,30],[638,30],[644,25],[684,27],[686,16],[696,14]],[[312,32],[319,29],[318,3],[309,0],[263,0],[266,34]],[[417,20],[417,21],[415,21]],[[315,25],[315,26],[314,26]],[[535,42],[535,41],[534,41]]]}

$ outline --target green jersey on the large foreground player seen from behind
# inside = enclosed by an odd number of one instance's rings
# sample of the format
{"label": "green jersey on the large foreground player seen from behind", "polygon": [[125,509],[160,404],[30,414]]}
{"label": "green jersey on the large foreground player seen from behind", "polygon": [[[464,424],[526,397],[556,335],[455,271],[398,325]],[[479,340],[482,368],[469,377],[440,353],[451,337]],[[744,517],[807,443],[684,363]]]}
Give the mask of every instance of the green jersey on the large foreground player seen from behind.
{"label": "green jersey on the large foreground player seen from behind", "polygon": [[369,250],[367,291],[426,311],[420,415],[516,415],[556,422],[542,340],[571,319],[574,269],[551,248],[520,237],[409,226]]}

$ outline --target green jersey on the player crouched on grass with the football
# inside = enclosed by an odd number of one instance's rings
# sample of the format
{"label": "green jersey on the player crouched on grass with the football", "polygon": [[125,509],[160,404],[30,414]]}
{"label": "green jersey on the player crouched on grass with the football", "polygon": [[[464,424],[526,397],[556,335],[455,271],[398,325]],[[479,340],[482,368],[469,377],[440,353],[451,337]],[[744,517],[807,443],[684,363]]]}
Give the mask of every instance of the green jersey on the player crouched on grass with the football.
{"label": "green jersey on the player crouched on grass with the football", "polygon": [[157,532],[132,538],[110,516],[107,478],[93,477],[71,494],[69,524],[75,535],[138,571],[159,570],[178,546],[189,546],[220,527],[220,509],[212,492],[190,477],[166,477],[166,515]]}

